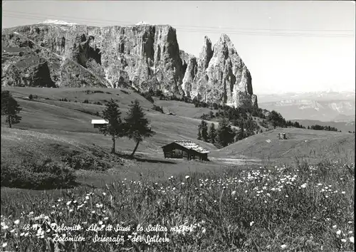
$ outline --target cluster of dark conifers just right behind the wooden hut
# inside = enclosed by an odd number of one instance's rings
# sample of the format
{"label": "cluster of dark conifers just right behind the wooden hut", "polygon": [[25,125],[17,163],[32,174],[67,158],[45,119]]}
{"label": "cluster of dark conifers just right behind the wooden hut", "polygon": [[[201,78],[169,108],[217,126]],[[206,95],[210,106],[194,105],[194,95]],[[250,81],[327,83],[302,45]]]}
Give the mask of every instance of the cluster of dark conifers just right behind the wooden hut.
{"label": "cluster of dark conifers just right behind the wooden hut", "polygon": [[216,128],[214,123],[211,123],[210,127],[206,121],[201,120],[201,123],[198,125],[198,140],[204,142],[210,142],[218,148],[226,147],[234,142],[243,140],[248,137],[248,134],[254,135],[254,132],[249,132],[241,127],[240,130],[234,130],[229,120],[222,118],[219,121],[219,125]]}

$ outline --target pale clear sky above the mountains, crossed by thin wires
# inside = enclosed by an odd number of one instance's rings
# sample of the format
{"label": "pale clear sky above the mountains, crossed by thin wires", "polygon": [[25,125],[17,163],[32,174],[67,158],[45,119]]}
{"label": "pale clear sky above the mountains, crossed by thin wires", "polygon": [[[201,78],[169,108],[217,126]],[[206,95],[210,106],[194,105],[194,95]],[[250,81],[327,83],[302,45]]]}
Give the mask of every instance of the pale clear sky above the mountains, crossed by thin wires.
{"label": "pale clear sky above the mountains, crossed by thin wires", "polygon": [[145,21],[177,29],[199,56],[226,33],[253,93],[355,92],[354,1],[2,1],[2,28],[58,19],[95,26]]}

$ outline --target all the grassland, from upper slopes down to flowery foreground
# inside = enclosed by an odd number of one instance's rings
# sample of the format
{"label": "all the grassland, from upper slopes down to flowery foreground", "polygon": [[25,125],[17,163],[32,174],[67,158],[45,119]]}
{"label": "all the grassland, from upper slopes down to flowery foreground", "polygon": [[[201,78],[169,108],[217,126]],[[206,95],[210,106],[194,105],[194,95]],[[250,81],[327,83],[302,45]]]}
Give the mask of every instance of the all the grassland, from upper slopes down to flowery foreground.
{"label": "all the grassland, from upper slopes down to flowery foreground", "polygon": [[[216,149],[196,140],[208,108],[155,99],[176,114],[164,115],[128,89],[2,90],[23,110],[14,128],[1,118],[1,171],[26,174],[31,165],[46,167],[41,160],[61,167],[63,157],[80,164],[72,189],[1,187],[1,251],[355,249],[355,135],[276,129]],[[140,100],[156,132],[135,159],[127,158],[134,142],[118,139],[110,154],[110,137],[90,125],[104,109],[93,103],[110,98],[122,117]],[[278,140],[281,131],[288,140]],[[211,161],[164,159],[160,147],[174,140],[199,143]]]}

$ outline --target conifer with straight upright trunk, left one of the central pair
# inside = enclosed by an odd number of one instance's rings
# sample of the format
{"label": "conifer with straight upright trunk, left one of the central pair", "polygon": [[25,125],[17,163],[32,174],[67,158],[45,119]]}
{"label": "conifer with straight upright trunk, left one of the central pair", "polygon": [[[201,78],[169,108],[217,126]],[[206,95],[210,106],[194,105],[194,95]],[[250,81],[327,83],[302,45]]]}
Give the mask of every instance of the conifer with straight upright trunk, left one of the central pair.
{"label": "conifer with straight upright trunk, left one of the central pair", "polygon": [[108,121],[108,124],[100,128],[100,132],[104,135],[110,135],[112,139],[111,153],[115,153],[115,138],[125,135],[124,125],[120,118],[121,112],[119,105],[114,100],[106,103],[106,108],[103,110],[103,118]]}

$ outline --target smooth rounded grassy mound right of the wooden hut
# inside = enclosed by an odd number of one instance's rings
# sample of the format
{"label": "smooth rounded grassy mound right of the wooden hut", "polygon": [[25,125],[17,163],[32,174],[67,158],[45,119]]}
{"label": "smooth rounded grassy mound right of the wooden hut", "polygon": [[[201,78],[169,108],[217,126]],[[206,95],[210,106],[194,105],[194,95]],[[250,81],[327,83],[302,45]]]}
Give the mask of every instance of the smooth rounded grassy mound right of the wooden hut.
{"label": "smooth rounded grassy mound right of the wooden hut", "polygon": [[[279,132],[286,132],[288,140],[278,140]],[[344,155],[350,161],[353,160],[354,135],[297,128],[270,130],[211,152],[213,157],[253,157],[278,159],[281,162],[293,161],[295,157],[307,157],[318,161],[323,157],[340,157],[340,155]]]}

